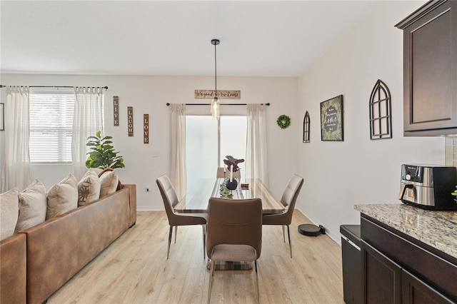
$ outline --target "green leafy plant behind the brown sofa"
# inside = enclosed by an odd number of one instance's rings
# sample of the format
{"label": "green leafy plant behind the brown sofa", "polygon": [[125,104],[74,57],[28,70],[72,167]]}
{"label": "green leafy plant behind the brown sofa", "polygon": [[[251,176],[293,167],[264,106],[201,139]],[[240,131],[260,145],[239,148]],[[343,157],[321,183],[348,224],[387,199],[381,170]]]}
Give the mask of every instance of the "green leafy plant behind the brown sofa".
{"label": "green leafy plant behind the brown sofa", "polygon": [[111,146],[112,136],[104,136],[101,138],[101,131],[97,131],[95,136],[87,138],[86,146],[91,147],[88,153],[89,157],[86,160],[87,168],[125,168],[124,158],[118,156],[119,151],[114,151]]}

